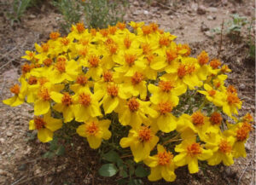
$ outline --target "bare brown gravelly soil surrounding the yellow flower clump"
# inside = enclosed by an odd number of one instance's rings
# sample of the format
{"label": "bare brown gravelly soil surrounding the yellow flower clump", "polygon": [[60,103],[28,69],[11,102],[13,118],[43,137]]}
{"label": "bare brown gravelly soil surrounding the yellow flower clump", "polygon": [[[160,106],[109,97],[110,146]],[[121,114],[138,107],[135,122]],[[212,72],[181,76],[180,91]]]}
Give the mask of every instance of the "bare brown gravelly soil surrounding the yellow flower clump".
{"label": "bare brown gravelly soil surrounding the yellow flower clump", "polygon": [[[149,2],[149,1],[148,1]],[[61,30],[61,14],[45,1],[40,7],[28,9],[20,24],[10,25],[6,13],[11,10],[9,1],[0,0],[0,95],[10,96],[9,87],[20,75],[20,56],[33,43],[45,42],[52,31]],[[132,1],[126,10],[125,21],[157,22],[165,31],[177,36],[177,43],[189,43],[193,55],[205,49],[211,58],[218,56],[220,34],[211,32],[228,22],[230,14],[255,17],[253,0],[205,1]],[[255,38],[255,23],[251,36]],[[241,114],[255,112],[255,61],[248,56],[246,29],[241,38],[232,41],[223,33],[219,58],[232,69],[228,83],[239,90],[243,101]],[[116,176],[103,178],[97,174],[100,167],[96,151],[79,136],[73,137],[74,146],[66,146],[66,154],[54,159],[43,159],[49,145],[32,139],[28,121],[32,107],[22,105],[10,108],[0,102],[0,184],[117,184]],[[255,184],[255,132],[246,143],[247,159],[236,159],[235,165],[207,167],[204,172],[191,175],[187,167],[177,169],[177,180],[172,183],[148,182],[143,184]]]}

